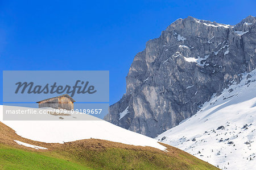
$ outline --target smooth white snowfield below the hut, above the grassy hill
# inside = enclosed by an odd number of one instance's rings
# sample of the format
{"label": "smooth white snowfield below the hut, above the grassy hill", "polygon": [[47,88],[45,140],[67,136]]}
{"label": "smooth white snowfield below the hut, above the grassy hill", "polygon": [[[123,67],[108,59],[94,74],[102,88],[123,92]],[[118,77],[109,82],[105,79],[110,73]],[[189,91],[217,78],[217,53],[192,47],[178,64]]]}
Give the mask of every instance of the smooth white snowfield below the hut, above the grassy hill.
{"label": "smooth white snowfield below the hut, above the grassy hill", "polygon": [[[112,123],[103,120],[72,121],[78,119],[79,115],[76,115],[76,118],[67,115],[42,115],[45,117],[52,117],[56,120],[60,120],[59,117],[62,117],[64,119],[69,119],[69,121],[3,121],[2,107],[3,106],[0,107],[0,122],[13,128],[13,130],[23,138],[46,143],[63,143],[94,138],[135,146],[150,146],[159,148],[160,150],[166,149],[166,147],[159,144],[155,139],[115,126]],[[6,107],[14,108],[16,106]],[[15,109],[24,109],[24,107],[16,107]],[[87,116],[90,117],[90,115]]]}

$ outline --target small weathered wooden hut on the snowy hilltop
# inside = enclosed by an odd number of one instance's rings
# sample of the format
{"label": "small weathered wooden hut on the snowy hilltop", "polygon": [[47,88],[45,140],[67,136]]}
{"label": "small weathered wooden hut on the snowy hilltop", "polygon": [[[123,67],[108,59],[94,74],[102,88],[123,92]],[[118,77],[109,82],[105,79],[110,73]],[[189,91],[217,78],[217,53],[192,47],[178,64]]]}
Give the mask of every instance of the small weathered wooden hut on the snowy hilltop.
{"label": "small weathered wooden hut on the snowy hilltop", "polygon": [[54,109],[74,109],[74,102],[76,102],[72,97],[68,94],[64,94],[57,97],[47,98],[42,101],[36,102],[38,103],[38,107],[52,107]]}

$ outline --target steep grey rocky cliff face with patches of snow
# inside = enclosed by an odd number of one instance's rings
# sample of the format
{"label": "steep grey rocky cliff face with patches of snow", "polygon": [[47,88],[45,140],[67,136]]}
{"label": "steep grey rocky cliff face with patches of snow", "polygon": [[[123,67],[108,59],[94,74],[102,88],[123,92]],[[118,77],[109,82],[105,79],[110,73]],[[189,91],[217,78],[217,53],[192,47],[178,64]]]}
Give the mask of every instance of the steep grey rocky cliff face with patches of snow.
{"label": "steep grey rocky cliff face with patches of snow", "polygon": [[105,120],[155,137],[195,114],[256,63],[256,18],[236,26],[177,19],[133,60],[126,94]]}

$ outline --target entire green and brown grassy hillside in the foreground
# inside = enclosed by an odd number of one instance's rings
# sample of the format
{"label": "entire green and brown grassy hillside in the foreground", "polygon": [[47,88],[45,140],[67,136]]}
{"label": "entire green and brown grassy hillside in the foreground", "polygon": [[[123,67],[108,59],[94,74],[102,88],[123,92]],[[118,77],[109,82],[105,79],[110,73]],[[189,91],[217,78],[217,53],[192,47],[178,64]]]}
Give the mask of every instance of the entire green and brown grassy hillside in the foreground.
{"label": "entire green and brown grassy hillside in the foreground", "polygon": [[[14,140],[48,150],[20,146]],[[42,143],[22,138],[0,122],[0,169],[217,169],[184,151],[163,145],[168,152],[99,139]]]}

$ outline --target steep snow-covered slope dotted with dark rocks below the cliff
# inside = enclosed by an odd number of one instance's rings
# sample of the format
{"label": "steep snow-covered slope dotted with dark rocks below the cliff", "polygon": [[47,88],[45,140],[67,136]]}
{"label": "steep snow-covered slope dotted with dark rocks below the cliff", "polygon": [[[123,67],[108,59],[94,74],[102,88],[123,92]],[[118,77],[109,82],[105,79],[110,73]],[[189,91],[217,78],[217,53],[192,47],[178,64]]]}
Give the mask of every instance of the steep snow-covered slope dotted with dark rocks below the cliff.
{"label": "steep snow-covered slope dotted with dark rocks below the cliff", "polygon": [[256,167],[256,70],[156,139],[221,169]]}

